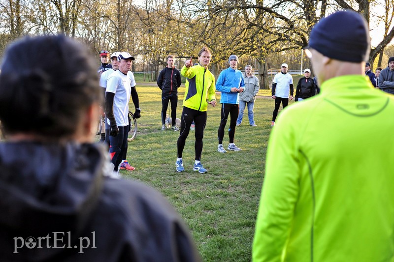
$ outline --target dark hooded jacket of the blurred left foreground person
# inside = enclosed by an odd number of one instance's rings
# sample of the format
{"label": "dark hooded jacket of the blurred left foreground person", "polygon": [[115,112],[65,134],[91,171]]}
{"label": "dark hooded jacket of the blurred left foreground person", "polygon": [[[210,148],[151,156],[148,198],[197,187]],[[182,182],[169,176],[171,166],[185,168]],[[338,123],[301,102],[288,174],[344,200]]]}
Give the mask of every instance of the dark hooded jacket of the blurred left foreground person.
{"label": "dark hooded jacket of the blurred left foreground person", "polygon": [[3,143],[0,170],[2,262],[199,261],[163,196],[104,176],[101,145]]}

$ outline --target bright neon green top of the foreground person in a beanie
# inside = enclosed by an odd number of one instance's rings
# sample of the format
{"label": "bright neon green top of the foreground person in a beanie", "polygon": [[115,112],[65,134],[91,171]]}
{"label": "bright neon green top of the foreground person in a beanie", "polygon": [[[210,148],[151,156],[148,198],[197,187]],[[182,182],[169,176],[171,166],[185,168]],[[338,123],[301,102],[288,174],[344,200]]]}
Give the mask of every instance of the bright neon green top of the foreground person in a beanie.
{"label": "bright neon green top of the foreground person in a beanie", "polygon": [[321,88],[272,129],[253,261],[394,261],[394,96],[359,75]]}

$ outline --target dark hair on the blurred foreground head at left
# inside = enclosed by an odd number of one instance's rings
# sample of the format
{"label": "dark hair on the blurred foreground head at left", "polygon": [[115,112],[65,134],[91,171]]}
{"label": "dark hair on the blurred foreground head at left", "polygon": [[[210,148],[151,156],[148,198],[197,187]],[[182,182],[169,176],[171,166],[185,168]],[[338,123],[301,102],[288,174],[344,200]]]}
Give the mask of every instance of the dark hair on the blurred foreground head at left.
{"label": "dark hair on the blurred foreground head at left", "polygon": [[6,133],[72,135],[82,114],[101,99],[88,50],[62,35],[25,37],[5,51],[0,120]]}

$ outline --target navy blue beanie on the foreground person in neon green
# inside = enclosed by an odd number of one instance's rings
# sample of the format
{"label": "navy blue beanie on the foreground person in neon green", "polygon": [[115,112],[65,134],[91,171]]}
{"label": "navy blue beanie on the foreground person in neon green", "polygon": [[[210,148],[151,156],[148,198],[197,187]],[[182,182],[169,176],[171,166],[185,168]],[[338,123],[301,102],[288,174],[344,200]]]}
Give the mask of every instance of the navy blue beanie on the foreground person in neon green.
{"label": "navy blue beanie on the foreground person in neon green", "polygon": [[365,19],[354,11],[339,11],[320,20],[309,36],[309,47],[328,58],[348,62],[368,60],[370,38]]}

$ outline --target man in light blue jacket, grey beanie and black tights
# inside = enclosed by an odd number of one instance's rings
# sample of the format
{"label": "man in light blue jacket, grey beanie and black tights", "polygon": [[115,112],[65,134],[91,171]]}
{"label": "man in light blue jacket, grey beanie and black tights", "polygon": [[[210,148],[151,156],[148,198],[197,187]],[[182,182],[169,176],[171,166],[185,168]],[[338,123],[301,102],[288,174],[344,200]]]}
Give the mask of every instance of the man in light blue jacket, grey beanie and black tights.
{"label": "man in light blue jacket, grey beanie and black tights", "polygon": [[227,124],[227,118],[230,114],[230,127],[229,127],[229,138],[230,144],[227,147],[228,150],[241,151],[241,148],[235,146],[234,135],[235,126],[237,123],[237,117],[239,113],[239,93],[243,92],[245,83],[243,74],[237,70],[238,57],[231,55],[229,58],[230,67],[223,70],[218,80],[216,81],[216,90],[221,91],[222,95],[220,103],[222,103],[221,109],[221,120],[218,129],[218,152],[226,153],[223,147],[223,137],[225,136],[225,127]]}

